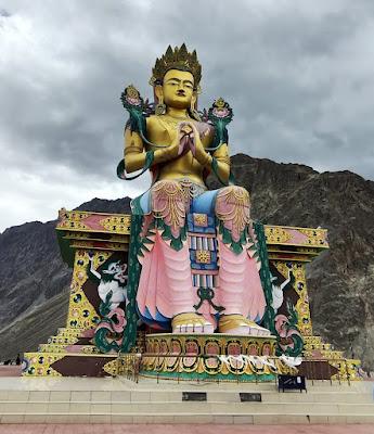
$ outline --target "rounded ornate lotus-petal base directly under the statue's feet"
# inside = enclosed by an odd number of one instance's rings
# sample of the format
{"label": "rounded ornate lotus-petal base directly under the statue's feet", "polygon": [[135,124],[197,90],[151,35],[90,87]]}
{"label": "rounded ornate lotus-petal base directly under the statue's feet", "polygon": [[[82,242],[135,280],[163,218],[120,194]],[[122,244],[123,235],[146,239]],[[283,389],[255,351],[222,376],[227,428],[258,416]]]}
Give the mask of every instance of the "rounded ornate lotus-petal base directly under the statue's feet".
{"label": "rounded ornate lotus-petal base directly under the statue's feet", "polygon": [[273,381],[280,368],[275,348],[275,336],[147,334],[140,375],[177,381]]}

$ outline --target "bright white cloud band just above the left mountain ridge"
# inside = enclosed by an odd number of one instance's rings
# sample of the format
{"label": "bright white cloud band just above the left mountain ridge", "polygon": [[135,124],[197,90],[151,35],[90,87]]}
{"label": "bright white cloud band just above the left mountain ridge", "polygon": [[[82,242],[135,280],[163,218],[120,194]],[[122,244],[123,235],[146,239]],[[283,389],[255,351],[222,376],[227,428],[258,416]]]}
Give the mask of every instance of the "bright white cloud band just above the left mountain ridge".
{"label": "bright white cloud band just above the left mountain ridge", "polygon": [[134,197],[146,183],[146,176],[137,184],[119,179],[105,181],[94,175],[82,178],[64,166],[53,166],[42,174],[5,168],[0,183],[0,232],[26,221],[53,220],[60,208],[73,209],[88,199]]}

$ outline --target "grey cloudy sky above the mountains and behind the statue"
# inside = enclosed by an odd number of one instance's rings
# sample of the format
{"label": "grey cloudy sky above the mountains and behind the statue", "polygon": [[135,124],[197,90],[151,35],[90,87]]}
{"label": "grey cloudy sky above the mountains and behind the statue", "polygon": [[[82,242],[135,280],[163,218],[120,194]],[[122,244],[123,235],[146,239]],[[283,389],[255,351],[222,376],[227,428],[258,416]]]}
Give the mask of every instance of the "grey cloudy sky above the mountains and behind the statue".
{"label": "grey cloudy sky above the mountains and behind the statue", "polygon": [[196,48],[201,106],[234,108],[231,153],[374,180],[374,2],[0,0],[0,232],[92,197],[116,179],[126,113],[156,56]]}

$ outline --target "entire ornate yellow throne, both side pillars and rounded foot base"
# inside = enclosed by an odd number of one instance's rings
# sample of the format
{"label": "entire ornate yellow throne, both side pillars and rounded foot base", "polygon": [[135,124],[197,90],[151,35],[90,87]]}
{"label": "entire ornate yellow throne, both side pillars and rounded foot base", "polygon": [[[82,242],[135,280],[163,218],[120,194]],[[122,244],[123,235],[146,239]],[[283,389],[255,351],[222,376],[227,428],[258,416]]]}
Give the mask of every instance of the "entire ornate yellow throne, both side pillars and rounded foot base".
{"label": "entire ornate yellow throne, both side pillars and rounded foot base", "polygon": [[[68,316],[65,327],[37,353],[25,354],[24,375],[105,376],[120,372],[118,367],[127,360],[120,349],[129,318],[125,303],[111,309],[106,302],[109,291],[116,296],[128,283],[130,226],[129,215],[60,212],[56,230],[61,253],[73,268]],[[324,367],[311,369],[305,361],[299,372],[305,370],[309,376],[314,372],[315,378],[356,378],[359,361],[345,360],[340,352],[332,352],[312,333],[305,266],[328,248],[326,231],[265,226],[265,234],[272,275],[272,316],[268,321],[272,322],[273,335],[143,330],[130,349],[141,355],[140,374],[270,380],[275,372],[289,371],[278,356],[304,354],[308,363],[318,360]]]}

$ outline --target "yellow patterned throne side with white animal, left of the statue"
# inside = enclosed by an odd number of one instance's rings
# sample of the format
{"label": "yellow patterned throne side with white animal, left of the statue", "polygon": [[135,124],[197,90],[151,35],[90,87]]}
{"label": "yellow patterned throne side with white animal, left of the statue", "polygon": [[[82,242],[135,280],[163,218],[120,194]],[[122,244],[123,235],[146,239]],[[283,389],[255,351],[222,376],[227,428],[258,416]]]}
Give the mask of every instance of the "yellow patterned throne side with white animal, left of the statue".
{"label": "yellow patterned throne side with white animal, left of the statue", "polygon": [[94,335],[103,326],[114,336],[119,337],[124,331],[120,309],[102,322],[105,311],[100,292],[108,290],[103,288],[101,277],[114,266],[118,266],[119,276],[112,289],[126,282],[120,272],[128,263],[130,216],[62,209],[59,217],[61,254],[73,268],[68,315],[65,328],[40,345],[38,353],[25,354],[24,375],[113,375],[117,352],[103,353]]}

